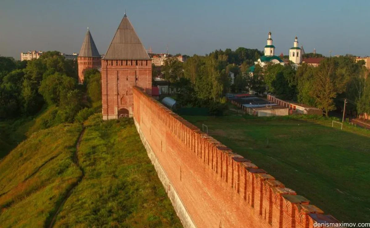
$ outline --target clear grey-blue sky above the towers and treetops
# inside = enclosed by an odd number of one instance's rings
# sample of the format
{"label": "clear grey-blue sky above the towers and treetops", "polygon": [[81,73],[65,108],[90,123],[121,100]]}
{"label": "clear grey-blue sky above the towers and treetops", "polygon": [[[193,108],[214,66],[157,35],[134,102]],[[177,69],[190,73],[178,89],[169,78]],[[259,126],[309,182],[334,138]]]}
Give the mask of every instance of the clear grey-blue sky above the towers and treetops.
{"label": "clear grey-blue sky above the towers and treetops", "polygon": [[105,54],[125,9],[154,52],[206,54],[238,47],[263,50],[271,28],[276,54],[298,36],[306,52],[370,55],[369,0],[1,0],[0,54],[79,52],[87,27]]}

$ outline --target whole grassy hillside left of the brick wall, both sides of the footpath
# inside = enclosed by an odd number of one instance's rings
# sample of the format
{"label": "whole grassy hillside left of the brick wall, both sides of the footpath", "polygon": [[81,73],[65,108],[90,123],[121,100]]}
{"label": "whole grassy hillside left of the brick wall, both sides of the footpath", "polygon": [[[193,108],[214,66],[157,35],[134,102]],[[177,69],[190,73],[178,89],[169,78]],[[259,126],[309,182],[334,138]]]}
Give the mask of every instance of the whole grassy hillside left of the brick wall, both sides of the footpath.
{"label": "whole grassy hillside left of the brick wall, both sides of the footpath", "polygon": [[0,227],[182,227],[132,119],[32,121],[0,161]]}

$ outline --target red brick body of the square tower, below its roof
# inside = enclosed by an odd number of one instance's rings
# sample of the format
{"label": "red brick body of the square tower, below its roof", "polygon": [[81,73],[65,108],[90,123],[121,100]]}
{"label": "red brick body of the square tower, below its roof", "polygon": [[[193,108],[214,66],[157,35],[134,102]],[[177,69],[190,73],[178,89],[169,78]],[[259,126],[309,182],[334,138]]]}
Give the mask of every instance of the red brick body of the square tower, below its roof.
{"label": "red brick body of the square tower, below its roof", "polygon": [[152,91],[151,60],[101,60],[103,119],[132,116],[133,86]]}

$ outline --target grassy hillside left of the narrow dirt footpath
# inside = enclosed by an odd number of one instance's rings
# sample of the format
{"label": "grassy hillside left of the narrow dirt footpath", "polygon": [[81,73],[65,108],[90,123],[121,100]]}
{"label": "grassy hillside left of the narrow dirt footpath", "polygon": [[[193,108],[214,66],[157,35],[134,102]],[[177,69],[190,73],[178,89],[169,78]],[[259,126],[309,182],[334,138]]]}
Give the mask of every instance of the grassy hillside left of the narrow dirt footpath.
{"label": "grassy hillside left of the narrow dirt footpath", "polygon": [[42,227],[81,177],[73,162],[81,125],[41,130],[0,161],[1,227]]}

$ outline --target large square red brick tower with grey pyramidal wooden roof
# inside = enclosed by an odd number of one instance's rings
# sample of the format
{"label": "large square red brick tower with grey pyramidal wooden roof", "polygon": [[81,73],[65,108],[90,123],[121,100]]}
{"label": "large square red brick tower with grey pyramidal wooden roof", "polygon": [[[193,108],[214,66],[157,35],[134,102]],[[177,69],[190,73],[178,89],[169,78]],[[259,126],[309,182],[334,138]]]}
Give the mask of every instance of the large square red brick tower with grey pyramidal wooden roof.
{"label": "large square red brick tower with grey pyramidal wooden roof", "polygon": [[152,93],[152,61],[126,14],[101,60],[103,119],[133,115],[133,86]]}

